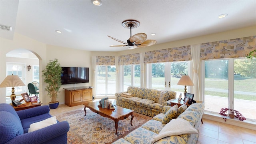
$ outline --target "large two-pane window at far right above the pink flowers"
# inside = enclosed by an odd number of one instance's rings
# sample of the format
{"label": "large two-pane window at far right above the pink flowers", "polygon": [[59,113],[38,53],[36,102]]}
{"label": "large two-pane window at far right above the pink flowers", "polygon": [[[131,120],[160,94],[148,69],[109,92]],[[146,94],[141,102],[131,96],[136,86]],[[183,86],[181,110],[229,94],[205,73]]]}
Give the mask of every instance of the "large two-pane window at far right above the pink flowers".
{"label": "large two-pane window at far right above the pink flowers", "polygon": [[256,119],[256,59],[204,61],[205,110],[219,113],[221,108],[238,110]]}

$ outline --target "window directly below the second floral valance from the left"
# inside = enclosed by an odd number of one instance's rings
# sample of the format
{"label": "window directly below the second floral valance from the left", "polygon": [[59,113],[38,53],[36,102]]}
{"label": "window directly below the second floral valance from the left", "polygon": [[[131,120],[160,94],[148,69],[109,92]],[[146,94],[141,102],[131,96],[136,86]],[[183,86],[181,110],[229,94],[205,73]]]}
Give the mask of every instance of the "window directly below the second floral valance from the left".
{"label": "window directly below the second floral valance from the left", "polygon": [[123,66],[123,88],[127,90],[129,86],[140,87],[140,65]]}

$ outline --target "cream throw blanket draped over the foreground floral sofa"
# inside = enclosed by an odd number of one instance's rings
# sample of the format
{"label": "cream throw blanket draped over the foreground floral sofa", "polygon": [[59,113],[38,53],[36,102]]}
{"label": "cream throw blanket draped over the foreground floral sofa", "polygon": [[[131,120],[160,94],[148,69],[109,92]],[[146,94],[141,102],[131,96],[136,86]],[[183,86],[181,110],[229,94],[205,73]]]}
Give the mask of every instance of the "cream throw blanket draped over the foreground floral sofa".
{"label": "cream throw blanket draped over the foreground floral sofa", "polygon": [[177,118],[171,120],[168,124],[162,128],[157,136],[154,136],[150,144],[157,142],[158,140],[165,138],[167,136],[179,136],[182,134],[198,134],[198,131],[193,128],[190,122],[184,120],[183,118]]}

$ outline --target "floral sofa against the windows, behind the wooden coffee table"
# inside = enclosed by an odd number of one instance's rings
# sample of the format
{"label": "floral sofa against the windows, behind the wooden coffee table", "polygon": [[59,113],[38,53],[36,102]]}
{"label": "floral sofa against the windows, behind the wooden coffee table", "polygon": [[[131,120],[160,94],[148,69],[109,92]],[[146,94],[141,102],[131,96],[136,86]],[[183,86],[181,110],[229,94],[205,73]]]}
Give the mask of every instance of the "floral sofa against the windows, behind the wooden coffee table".
{"label": "floral sofa against the windows, behind the wooden coffee table", "polygon": [[[130,93],[133,97],[124,97],[123,93]],[[176,98],[174,91],[129,86],[126,92],[116,93],[116,105],[154,117],[162,113],[163,106],[170,106],[170,100],[173,98]]]}

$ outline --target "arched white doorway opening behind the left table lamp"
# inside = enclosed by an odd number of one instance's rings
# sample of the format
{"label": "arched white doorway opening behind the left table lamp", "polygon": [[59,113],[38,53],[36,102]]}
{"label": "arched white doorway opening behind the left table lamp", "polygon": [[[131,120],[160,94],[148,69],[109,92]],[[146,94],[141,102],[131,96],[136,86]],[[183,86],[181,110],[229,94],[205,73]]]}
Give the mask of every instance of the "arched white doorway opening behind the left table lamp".
{"label": "arched white doorway opening behind the left table lamp", "polygon": [[[15,88],[16,100],[22,99],[20,94],[28,92],[28,83],[37,81],[40,84],[39,73],[39,58],[33,52],[16,49],[6,54],[6,75],[18,75],[25,84]],[[6,88],[5,93],[6,103],[10,104],[11,88]]]}

